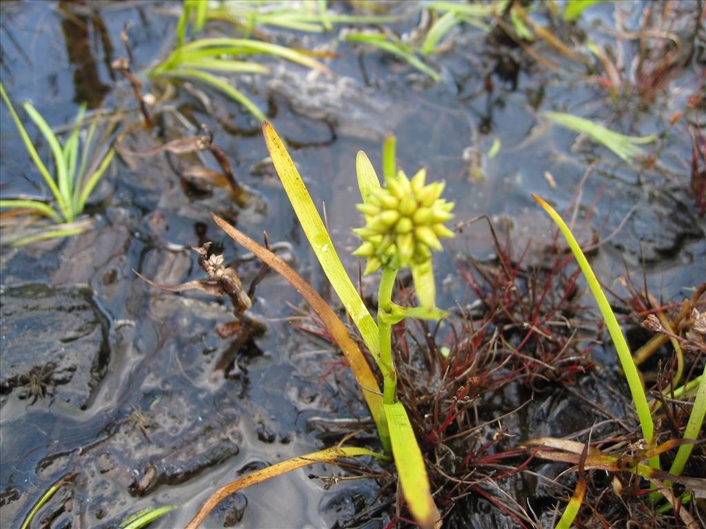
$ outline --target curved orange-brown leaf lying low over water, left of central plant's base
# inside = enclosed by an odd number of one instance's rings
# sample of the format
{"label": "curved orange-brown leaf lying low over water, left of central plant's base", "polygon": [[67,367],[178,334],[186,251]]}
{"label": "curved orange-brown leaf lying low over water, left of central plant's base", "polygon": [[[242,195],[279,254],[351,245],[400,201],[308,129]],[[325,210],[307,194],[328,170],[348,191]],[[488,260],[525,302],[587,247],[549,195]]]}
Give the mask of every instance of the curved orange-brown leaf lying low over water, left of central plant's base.
{"label": "curved orange-brown leaf lying low over water, left of central plant's base", "polygon": [[297,468],[313,465],[315,463],[335,463],[342,458],[354,456],[374,456],[378,458],[385,458],[385,456],[365,448],[357,448],[356,446],[342,446],[340,448],[328,448],[318,452],[312,452],[311,454],[306,454],[306,456],[294,457],[287,459],[287,461],[275,463],[274,465],[268,466],[268,468],[257,470],[256,472],[246,475],[239,480],[235,480],[230,482],[228,485],[220,487],[220,489],[211,494],[210,497],[203,502],[201,509],[198,509],[196,515],[191,518],[189,525],[186,525],[186,529],[198,528],[198,526],[201,525],[201,523],[206,519],[210,511],[213,511],[215,506],[217,506],[222,499],[230,494],[233,494],[234,492],[244,489],[245,487],[256,485],[257,483],[269,480],[270,478],[275,478],[278,475],[291,472],[292,470],[297,470]]}

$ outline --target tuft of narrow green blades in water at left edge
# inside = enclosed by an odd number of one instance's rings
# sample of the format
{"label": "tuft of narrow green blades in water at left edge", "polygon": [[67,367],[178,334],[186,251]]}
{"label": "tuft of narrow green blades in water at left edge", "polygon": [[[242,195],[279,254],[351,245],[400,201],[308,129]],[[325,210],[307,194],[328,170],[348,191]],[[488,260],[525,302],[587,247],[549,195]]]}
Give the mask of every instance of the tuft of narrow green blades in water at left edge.
{"label": "tuft of narrow green blades in water at left edge", "polygon": [[[52,175],[32,144],[27,130],[25,130],[20,121],[2,83],[0,83],[0,95],[10,110],[10,114],[32,158],[32,162],[35,163],[37,170],[40,171],[56,202],[56,207],[53,207],[41,200],[8,198],[0,200],[0,207],[31,209],[49,217],[57,224],[73,223],[73,221],[76,221],[76,217],[83,212],[88,197],[90,197],[92,190],[100,181],[115,154],[112,148],[108,150],[100,148],[106,142],[107,137],[104,136],[97,145],[94,145],[97,128],[97,122],[94,120],[88,128],[85,138],[83,138],[83,148],[81,147],[80,125],[85,113],[84,105],[76,115],[71,134],[61,145],[59,138],[56,137],[54,131],[47,125],[47,122],[44,121],[37,109],[30,102],[25,102],[23,105],[25,111],[44,136],[44,140],[47,141],[49,149],[52,150],[54,155],[54,174]],[[44,233],[44,238],[66,236],[73,233],[76,233],[76,227],[65,226],[65,229],[58,227]]]}

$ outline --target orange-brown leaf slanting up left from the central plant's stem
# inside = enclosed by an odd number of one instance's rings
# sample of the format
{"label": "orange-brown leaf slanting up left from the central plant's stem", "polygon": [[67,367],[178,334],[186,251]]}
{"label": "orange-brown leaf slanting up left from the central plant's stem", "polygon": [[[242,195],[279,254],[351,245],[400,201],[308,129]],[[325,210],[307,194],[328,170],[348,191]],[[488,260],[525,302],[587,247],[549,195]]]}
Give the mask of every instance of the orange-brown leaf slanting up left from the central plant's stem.
{"label": "orange-brown leaf slanting up left from the central plant's stem", "polygon": [[344,327],[341,320],[338,319],[335,312],[328,306],[321,296],[311,288],[311,285],[304,281],[304,279],[294,272],[294,269],[287,265],[286,262],[282,261],[280,257],[277,257],[274,253],[270,252],[267,248],[256,243],[251,238],[246,236],[245,233],[234,228],[228,224],[225,220],[221,219],[215,214],[211,215],[216,224],[225,231],[229,236],[233,238],[235,242],[241,245],[246,250],[250,250],[252,253],[257,255],[261,260],[270,265],[279,274],[282,275],[289,284],[297,289],[297,292],[301,294],[307,303],[313,308],[314,312],[321,318],[321,322],[325,325],[328,332],[333,336],[336,345],[340,347],[343,355],[350,365],[353,375],[356,377],[358,383],[363,387],[363,396],[365,397],[366,403],[370,408],[370,413],[373,415],[375,424],[378,427],[378,432],[381,434],[381,439],[385,443],[385,420],[383,418],[382,402],[383,399],[380,395],[380,388],[378,387],[378,382],[373,375],[373,372],[368,365],[363,353],[352,338],[348,334],[348,329]]}

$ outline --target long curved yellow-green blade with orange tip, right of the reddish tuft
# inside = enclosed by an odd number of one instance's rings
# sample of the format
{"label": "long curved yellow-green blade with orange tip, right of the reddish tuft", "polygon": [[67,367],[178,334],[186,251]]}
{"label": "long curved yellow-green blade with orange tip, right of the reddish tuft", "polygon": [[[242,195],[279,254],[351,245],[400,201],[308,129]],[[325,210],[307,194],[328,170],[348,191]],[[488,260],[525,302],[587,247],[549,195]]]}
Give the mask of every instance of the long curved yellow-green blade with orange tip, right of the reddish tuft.
{"label": "long curved yellow-green blade with orange tip, right of the reddish tuft", "polygon": [[[628,386],[630,387],[630,394],[633,396],[635,410],[637,411],[638,418],[640,419],[642,437],[645,437],[647,444],[651,444],[652,438],[654,437],[654,423],[652,422],[652,415],[650,415],[650,407],[647,406],[647,398],[645,397],[645,391],[642,389],[642,382],[640,382],[638,368],[635,367],[633,356],[630,354],[630,348],[628,348],[628,343],[625,340],[625,336],[623,336],[620,325],[618,325],[618,320],[616,320],[613,310],[611,309],[611,305],[608,303],[608,299],[603,293],[601,285],[596,278],[596,274],[594,274],[591,269],[591,265],[588,264],[585,255],[583,255],[581,247],[576,242],[576,239],[568,226],[566,226],[566,223],[563,221],[561,216],[554,211],[553,207],[544,202],[542,198],[534,194],[532,197],[534,200],[537,200],[539,205],[544,208],[544,211],[549,214],[549,217],[554,220],[556,225],[561,230],[561,233],[563,233],[563,236],[566,238],[571,252],[578,261],[581,272],[583,272],[588,286],[591,288],[591,293],[598,304],[598,308],[601,310],[601,315],[606,323],[606,327],[608,327],[608,332],[611,335],[616,352],[618,353],[618,360],[620,360],[621,366],[623,367],[623,372],[625,372],[625,377],[628,381]],[[653,456],[650,458],[650,465],[654,468],[659,468],[659,456]]]}

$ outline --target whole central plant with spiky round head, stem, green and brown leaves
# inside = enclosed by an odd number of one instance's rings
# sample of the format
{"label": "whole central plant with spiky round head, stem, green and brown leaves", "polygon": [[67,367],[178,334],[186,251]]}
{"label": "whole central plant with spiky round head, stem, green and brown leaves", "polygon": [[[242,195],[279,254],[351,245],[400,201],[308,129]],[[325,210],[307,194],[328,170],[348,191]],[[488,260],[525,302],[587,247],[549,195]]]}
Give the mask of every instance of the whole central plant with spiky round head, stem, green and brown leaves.
{"label": "whole central plant with spiky round head, stem, green and brown leaves", "polygon": [[[270,157],[273,159],[277,174],[285,187],[306,238],[381,370],[384,381],[383,393],[379,391],[377,382],[358,346],[350,339],[347,330],[333,310],[313,291],[311,286],[284,262],[244,233],[230,226],[220,217],[214,215],[213,218],[237,243],[253,251],[267,265],[280,272],[309,301],[313,310],[321,317],[340,345],[361,386],[378,427],[385,453],[392,454],[395,459],[402,493],[407,500],[409,511],[420,525],[424,527],[437,525],[441,523],[440,515],[431,497],[424,457],[405,406],[397,401],[395,395],[397,377],[391,351],[391,334],[392,325],[407,317],[438,320],[445,315],[445,312],[436,308],[431,250],[441,249],[438,237],[453,236],[453,232],[443,225],[444,221],[451,218],[450,209],[453,208],[453,204],[440,198],[443,183],[426,185],[424,170],[419,171],[411,181],[404,172],[395,170],[393,139],[388,139],[383,149],[385,188],[381,187],[378,176],[364,152],[358,153],[356,169],[363,198],[363,204],[359,205],[359,210],[365,215],[366,226],[357,230],[357,233],[364,238],[364,243],[356,254],[368,258],[366,273],[370,274],[377,269],[382,269],[376,324],[337,257],[333,241],[284,143],[269,123],[263,124],[263,133]],[[412,279],[417,286],[417,297],[421,303],[419,307],[406,308],[396,305],[391,300],[395,276],[400,267],[407,266],[412,269]],[[276,466],[261,470],[256,475],[226,485],[203,504],[189,524],[189,529],[198,527],[220,499],[243,486],[300,468],[312,461],[337,461],[342,457],[357,455],[381,457],[380,454],[374,454],[365,449],[340,446],[337,449],[277,463]]]}

